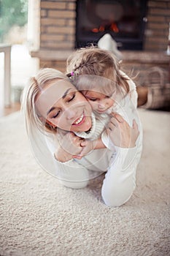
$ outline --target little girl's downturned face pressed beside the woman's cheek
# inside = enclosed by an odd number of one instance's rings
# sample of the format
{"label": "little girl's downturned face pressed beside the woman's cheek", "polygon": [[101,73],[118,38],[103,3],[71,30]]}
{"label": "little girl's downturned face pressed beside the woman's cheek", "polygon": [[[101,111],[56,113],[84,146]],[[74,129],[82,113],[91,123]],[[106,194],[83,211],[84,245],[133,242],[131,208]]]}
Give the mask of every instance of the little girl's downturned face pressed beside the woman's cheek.
{"label": "little girl's downturned face pressed beside the woman's cheek", "polygon": [[82,91],[86,99],[91,105],[91,108],[97,113],[105,113],[114,104],[112,95],[106,96],[99,91]]}

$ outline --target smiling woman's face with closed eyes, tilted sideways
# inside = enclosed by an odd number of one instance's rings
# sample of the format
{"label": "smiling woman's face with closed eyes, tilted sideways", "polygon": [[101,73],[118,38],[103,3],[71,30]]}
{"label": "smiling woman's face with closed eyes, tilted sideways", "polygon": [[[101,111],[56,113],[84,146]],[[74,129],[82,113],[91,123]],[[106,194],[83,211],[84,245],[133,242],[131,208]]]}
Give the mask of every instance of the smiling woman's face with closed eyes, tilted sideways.
{"label": "smiling woman's face with closed eyes, tilted sideways", "polygon": [[85,97],[67,80],[46,86],[36,99],[39,114],[48,124],[70,132],[91,128],[91,108]]}

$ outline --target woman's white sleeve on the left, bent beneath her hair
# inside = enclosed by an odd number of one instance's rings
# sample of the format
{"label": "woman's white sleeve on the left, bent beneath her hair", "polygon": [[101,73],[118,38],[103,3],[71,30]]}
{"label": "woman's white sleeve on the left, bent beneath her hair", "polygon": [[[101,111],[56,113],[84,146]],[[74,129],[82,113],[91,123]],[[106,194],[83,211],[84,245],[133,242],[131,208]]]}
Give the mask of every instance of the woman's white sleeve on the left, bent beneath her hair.
{"label": "woman's white sleeve on the left, bent beneath her hair", "polygon": [[39,130],[34,129],[31,131],[29,138],[34,151],[34,157],[47,173],[58,178],[61,184],[66,187],[80,189],[87,186],[88,170],[85,167],[74,159],[68,162],[58,162],[55,159],[53,135],[43,134]]}

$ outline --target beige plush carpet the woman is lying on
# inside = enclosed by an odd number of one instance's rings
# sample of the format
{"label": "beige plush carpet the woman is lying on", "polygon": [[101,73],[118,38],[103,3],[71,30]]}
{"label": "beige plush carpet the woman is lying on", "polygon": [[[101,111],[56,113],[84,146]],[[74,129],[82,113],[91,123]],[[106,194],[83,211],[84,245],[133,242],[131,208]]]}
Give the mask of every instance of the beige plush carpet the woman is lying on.
{"label": "beige plush carpet the woman is lying on", "polygon": [[20,113],[0,119],[0,255],[170,255],[170,115],[140,110],[144,151],[131,200],[109,208],[104,176],[62,187],[36,163]]}

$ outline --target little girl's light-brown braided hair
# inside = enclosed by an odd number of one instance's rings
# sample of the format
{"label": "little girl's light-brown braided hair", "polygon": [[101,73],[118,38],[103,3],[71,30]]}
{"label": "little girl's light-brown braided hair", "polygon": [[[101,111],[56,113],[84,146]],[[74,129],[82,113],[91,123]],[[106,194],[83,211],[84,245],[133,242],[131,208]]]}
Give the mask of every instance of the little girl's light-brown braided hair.
{"label": "little girl's light-brown braided hair", "polygon": [[107,50],[90,47],[72,53],[66,61],[68,76],[97,75],[115,82],[117,89],[129,92],[128,77],[120,71],[120,64]]}

